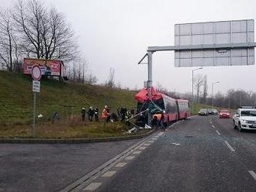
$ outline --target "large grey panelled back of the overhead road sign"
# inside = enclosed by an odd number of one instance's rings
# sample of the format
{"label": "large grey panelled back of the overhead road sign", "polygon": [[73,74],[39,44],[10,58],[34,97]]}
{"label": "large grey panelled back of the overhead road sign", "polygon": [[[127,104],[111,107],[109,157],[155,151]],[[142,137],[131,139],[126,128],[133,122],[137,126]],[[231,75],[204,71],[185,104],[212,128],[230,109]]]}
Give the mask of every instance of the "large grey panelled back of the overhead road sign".
{"label": "large grey panelled back of the overhead road sign", "polygon": [[253,65],[254,20],[197,22],[175,25],[175,46],[230,45],[232,48],[175,50],[175,67]]}

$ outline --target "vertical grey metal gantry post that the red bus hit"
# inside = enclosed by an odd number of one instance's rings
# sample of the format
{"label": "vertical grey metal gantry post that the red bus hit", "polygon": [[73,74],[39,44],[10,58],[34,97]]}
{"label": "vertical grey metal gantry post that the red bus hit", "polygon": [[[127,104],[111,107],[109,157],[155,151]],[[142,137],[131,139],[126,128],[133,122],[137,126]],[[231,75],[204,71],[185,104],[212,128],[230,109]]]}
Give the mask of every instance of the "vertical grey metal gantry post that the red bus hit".
{"label": "vertical grey metal gantry post that the red bus hit", "polygon": [[[151,92],[151,88],[152,88],[152,54],[153,52],[147,51],[147,62],[148,62],[148,66],[147,66],[147,90],[148,90],[148,98],[151,101],[152,100],[152,92]],[[151,114],[150,114],[150,110],[147,112],[147,125],[150,125],[150,120],[151,120]]]}

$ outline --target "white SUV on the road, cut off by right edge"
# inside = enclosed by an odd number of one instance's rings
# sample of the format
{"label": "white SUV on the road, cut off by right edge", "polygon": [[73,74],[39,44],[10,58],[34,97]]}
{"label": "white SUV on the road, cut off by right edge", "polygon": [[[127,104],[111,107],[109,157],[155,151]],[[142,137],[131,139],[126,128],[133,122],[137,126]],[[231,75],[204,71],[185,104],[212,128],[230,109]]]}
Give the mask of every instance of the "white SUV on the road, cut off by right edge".
{"label": "white SUV on the road, cut off by right edge", "polygon": [[233,116],[234,129],[256,130],[256,108],[238,108]]}

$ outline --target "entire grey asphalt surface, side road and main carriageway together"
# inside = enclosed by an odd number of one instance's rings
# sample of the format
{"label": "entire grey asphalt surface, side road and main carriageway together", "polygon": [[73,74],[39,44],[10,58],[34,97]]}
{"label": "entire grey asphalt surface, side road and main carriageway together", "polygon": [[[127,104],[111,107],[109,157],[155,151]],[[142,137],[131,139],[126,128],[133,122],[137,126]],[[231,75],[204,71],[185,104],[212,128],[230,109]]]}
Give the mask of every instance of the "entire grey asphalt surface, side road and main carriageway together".
{"label": "entire grey asphalt surface, side road and main carriageway together", "polygon": [[[0,192],[59,191],[136,142],[0,144]],[[231,119],[178,122],[122,158],[72,191],[256,191],[256,132]]]}

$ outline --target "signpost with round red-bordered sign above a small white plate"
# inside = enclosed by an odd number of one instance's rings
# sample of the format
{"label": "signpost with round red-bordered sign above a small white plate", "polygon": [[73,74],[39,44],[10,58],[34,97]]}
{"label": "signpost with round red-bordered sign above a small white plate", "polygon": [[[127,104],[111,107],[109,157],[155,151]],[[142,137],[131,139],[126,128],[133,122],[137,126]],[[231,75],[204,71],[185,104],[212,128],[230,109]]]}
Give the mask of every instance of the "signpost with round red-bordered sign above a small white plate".
{"label": "signpost with round red-bordered sign above a small white plate", "polygon": [[33,137],[36,137],[36,93],[40,92],[40,79],[42,77],[41,69],[38,65],[33,65],[31,69],[31,76],[33,77]]}

